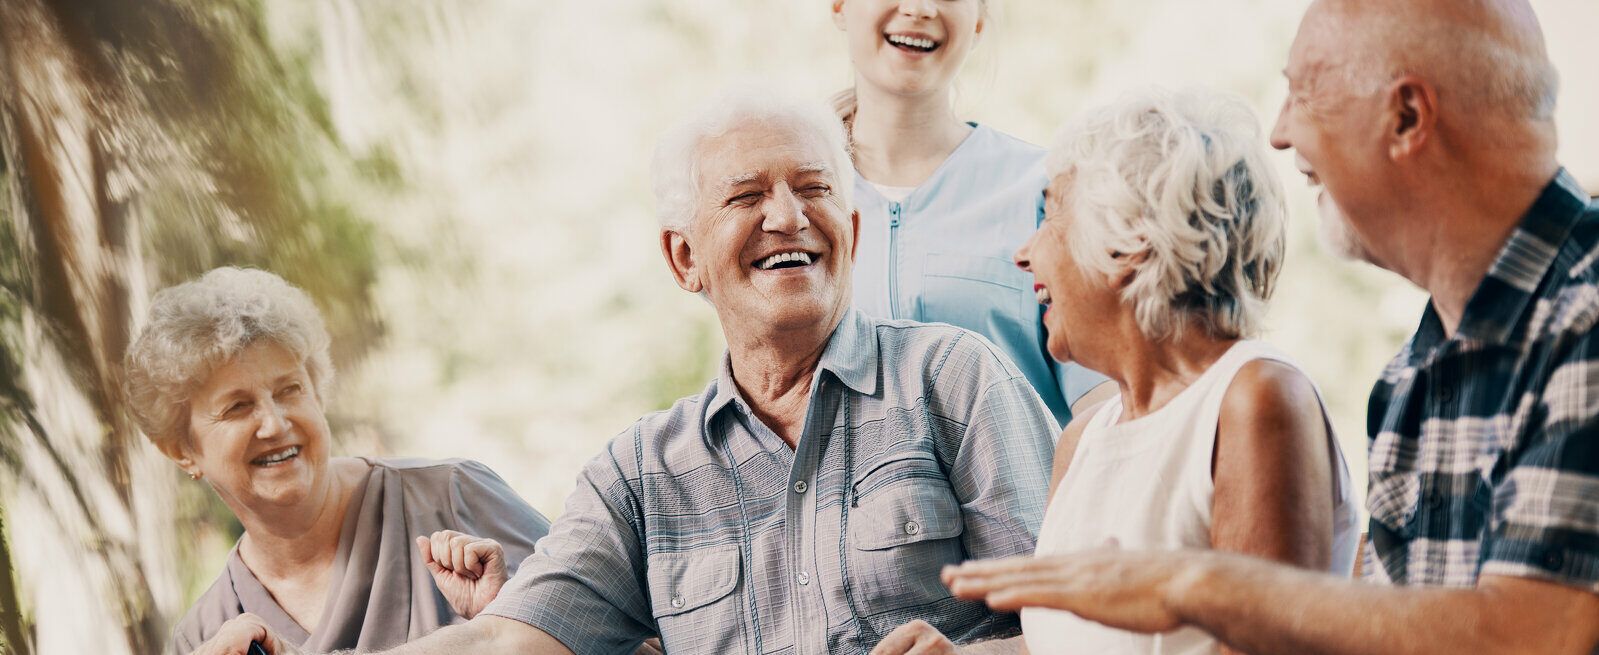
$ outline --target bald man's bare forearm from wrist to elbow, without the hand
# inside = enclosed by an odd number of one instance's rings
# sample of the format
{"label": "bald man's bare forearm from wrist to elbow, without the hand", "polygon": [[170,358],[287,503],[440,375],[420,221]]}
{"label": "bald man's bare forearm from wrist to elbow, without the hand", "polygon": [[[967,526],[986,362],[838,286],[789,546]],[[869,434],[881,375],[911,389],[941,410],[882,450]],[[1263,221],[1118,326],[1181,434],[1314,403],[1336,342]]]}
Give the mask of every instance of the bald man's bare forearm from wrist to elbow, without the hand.
{"label": "bald man's bare forearm from wrist to elbow, without the hand", "polygon": [[[1174,578],[1170,609],[1249,653],[1586,653],[1562,642],[1559,617],[1495,590],[1356,583],[1204,553]],[[1530,618],[1529,618],[1530,617]],[[1545,629],[1540,623],[1554,623]]]}

